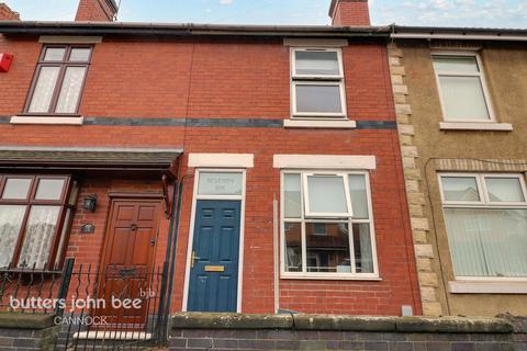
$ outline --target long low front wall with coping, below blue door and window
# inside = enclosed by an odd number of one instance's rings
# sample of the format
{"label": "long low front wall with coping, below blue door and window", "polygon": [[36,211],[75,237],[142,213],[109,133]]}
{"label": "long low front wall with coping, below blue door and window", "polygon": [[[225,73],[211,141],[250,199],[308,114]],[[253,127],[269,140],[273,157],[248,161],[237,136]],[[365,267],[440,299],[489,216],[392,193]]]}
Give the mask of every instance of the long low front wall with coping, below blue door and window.
{"label": "long low front wall with coping, below blue door and window", "polygon": [[169,350],[525,351],[526,330],[504,318],[181,313]]}

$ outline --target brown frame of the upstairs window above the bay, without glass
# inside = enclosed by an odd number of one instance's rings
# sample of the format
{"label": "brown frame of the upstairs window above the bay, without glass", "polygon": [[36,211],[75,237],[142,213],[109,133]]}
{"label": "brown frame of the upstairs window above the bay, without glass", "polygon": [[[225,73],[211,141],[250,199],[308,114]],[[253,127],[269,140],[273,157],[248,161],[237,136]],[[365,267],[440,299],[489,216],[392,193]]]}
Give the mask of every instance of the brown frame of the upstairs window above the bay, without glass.
{"label": "brown frame of the upstairs window above the bay, without glass", "polygon": [[[65,48],[66,52],[64,54],[63,60],[44,60],[47,49],[49,48]],[[76,48],[89,48],[90,49],[90,55],[87,61],[69,61],[69,58],[71,56],[71,50]],[[93,57],[93,45],[82,45],[82,44],[72,44],[72,45],[56,45],[56,44],[49,44],[49,45],[43,45],[41,54],[38,56],[38,61],[35,67],[35,71],[33,73],[33,78],[31,81],[30,90],[27,92],[27,97],[25,99],[24,103],[24,110],[22,115],[25,116],[80,116],[79,115],[79,107],[82,101],[82,94],[85,91],[86,87],[86,80],[88,77],[89,68],[91,66],[91,59]],[[57,75],[57,81],[55,82],[55,87],[52,93],[52,100],[49,102],[49,106],[46,112],[30,112],[30,106],[34,98],[35,89],[36,89],[36,83],[38,81],[38,78],[41,76],[41,71],[43,67],[58,67],[59,72]],[[56,112],[57,110],[57,103],[58,99],[60,97],[60,89],[63,88],[64,84],[64,78],[66,76],[66,70],[69,67],[82,67],[86,68],[85,76],[82,78],[82,82],[80,84],[80,93],[79,93],[79,99],[77,101],[77,105],[75,109],[75,112],[71,113],[61,113],[61,112]]]}

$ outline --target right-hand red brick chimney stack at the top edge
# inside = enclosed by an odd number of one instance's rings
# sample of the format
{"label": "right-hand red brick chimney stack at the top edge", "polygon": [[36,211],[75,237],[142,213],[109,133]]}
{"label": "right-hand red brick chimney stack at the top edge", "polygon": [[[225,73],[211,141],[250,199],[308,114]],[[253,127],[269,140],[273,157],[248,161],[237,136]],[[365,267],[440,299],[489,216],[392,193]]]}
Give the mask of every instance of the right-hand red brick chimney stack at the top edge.
{"label": "right-hand red brick chimney stack at the top edge", "polygon": [[332,0],[329,16],[335,26],[369,26],[368,0]]}

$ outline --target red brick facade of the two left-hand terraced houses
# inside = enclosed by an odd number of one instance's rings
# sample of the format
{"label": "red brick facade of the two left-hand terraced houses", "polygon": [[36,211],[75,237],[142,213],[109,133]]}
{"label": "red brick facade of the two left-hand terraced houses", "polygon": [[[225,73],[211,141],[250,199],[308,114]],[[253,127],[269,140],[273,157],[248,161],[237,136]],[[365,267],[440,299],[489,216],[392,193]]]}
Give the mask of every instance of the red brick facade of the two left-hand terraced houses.
{"label": "red brick facade of the two left-hand terraced houses", "polygon": [[[0,79],[0,115],[23,109],[40,45],[36,38],[0,37],[15,61]],[[385,48],[375,43],[344,48],[349,117],[395,121]],[[80,107],[85,116],[283,120],[290,113],[289,48],[279,41],[135,41],[104,38],[96,46]],[[184,148],[184,152],[255,154],[247,171],[243,312],[273,310],[272,201],[280,195],[274,154],[373,155],[373,212],[381,282],[281,280],[282,308],[306,313],[399,315],[421,313],[406,214],[397,133],[394,129],[283,129],[175,126],[21,126],[0,124],[2,145],[134,146]],[[57,135],[59,137],[57,137]],[[181,174],[193,174],[183,158]],[[93,179],[82,194],[99,193],[94,214],[78,212],[69,253],[98,262],[110,189],[159,189],[153,180],[124,183]],[[193,179],[186,180],[177,249],[173,308],[181,308]],[[78,235],[93,219],[93,236]],[[168,231],[161,220],[160,231]],[[164,245],[158,246],[161,258]],[[89,248],[85,250],[83,248]],[[99,253],[98,253],[99,252]],[[160,261],[158,260],[158,263]]]}

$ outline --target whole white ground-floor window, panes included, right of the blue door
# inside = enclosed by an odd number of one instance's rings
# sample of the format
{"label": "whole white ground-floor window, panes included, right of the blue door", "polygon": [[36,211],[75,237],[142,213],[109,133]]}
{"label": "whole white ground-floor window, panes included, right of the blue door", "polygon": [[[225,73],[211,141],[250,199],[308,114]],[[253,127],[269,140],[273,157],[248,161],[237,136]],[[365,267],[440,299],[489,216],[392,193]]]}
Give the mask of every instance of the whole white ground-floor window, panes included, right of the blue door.
{"label": "whole white ground-floor window, panes included, right of the blue door", "polygon": [[285,170],[281,276],[379,279],[369,174]]}

